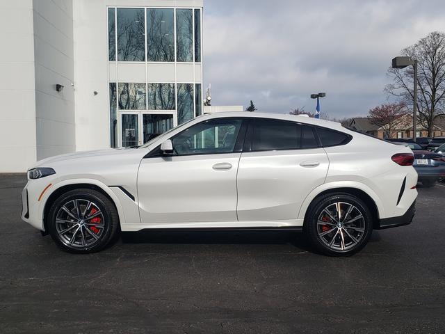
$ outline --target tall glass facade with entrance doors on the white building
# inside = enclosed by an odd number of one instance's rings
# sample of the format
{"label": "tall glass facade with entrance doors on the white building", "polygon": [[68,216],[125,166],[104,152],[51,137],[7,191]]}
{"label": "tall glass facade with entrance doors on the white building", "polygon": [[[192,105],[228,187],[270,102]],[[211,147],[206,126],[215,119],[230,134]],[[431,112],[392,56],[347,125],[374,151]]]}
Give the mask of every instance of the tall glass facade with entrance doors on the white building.
{"label": "tall glass facade with entrance doors on the white building", "polygon": [[[110,77],[117,78],[109,83],[111,147],[142,145],[200,116],[202,9],[108,7],[107,12]],[[184,66],[193,70],[184,71]]]}

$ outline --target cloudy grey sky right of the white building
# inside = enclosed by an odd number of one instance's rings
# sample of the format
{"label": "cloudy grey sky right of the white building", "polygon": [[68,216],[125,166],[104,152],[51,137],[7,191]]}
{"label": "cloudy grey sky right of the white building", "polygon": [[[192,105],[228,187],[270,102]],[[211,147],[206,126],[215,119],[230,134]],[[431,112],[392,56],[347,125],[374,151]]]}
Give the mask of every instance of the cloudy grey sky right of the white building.
{"label": "cloudy grey sky right of the white building", "polygon": [[204,85],[213,104],[331,118],[385,103],[391,58],[445,31],[444,0],[204,0]]}

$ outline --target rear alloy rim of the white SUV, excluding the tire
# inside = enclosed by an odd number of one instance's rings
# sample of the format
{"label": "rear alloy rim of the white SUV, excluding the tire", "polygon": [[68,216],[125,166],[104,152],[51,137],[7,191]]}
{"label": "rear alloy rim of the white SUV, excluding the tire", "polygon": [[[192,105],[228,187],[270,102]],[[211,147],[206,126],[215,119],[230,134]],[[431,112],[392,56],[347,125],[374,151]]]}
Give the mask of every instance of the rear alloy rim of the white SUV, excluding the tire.
{"label": "rear alloy rim of the white SUV, excluding the tire", "polygon": [[318,237],[332,250],[349,250],[359,244],[365,235],[363,213],[348,202],[327,205],[317,219]]}

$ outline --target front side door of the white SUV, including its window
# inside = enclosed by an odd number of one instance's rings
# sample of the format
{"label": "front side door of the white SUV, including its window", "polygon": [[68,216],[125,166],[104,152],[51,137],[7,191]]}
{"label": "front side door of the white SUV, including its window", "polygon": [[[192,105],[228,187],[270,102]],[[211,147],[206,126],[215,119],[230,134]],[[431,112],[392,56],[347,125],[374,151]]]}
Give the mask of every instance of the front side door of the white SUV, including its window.
{"label": "front side door of the white SUV, including its window", "polygon": [[236,221],[236,172],[245,126],[218,118],[171,139],[174,153],[153,150],[138,171],[142,223]]}

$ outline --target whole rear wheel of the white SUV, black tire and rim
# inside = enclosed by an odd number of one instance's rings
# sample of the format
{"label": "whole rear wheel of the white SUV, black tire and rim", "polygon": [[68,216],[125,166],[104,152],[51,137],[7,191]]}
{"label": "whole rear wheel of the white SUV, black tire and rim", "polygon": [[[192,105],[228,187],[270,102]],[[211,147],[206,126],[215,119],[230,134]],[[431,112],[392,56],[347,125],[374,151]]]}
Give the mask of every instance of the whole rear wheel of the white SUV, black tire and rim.
{"label": "whole rear wheel of the white SUV, black tire and rim", "polygon": [[[332,207],[336,209],[334,212]],[[349,214],[343,217],[350,207]],[[362,218],[357,218],[360,215]],[[373,216],[369,207],[349,193],[328,193],[316,198],[309,206],[305,219],[305,233],[311,244],[330,256],[346,257],[357,253],[366,246],[372,231]]]}

